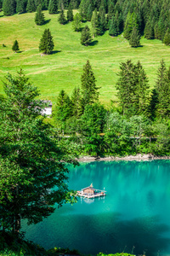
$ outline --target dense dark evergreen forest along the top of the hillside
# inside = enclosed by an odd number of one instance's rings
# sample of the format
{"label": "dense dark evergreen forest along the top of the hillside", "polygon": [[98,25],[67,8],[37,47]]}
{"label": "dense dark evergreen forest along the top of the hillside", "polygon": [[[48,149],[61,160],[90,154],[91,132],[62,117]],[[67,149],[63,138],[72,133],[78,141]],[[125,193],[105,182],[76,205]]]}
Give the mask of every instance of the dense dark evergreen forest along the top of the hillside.
{"label": "dense dark evergreen forest along the top of the hillside", "polygon": [[[59,9],[79,9],[83,22],[95,19],[95,35],[110,30],[111,36],[124,32],[124,37],[129,39],[136,27],[148,39],[163,40],[166,32],[169,37],[169,0],[0,0],[4,15],[35,12],[39,4],[49,14],[56,14]],[[98,15],[93,17],[94,10]]]}

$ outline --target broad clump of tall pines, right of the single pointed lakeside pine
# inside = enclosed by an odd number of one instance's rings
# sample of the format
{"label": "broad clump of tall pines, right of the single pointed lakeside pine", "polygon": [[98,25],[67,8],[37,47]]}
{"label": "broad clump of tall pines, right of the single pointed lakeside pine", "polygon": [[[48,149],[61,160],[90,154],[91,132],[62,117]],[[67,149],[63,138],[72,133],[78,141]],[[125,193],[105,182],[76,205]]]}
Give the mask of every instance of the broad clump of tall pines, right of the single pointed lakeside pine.
{"label": "broad clump of tall pines, right of the single pointed lakeside pine", "polygon": [[120,68],[116,90],[123,114],[145,114],[149,105],[150,86],[143,67],[140,62],[135,65],[131,60],[127,60],[121,63]]}

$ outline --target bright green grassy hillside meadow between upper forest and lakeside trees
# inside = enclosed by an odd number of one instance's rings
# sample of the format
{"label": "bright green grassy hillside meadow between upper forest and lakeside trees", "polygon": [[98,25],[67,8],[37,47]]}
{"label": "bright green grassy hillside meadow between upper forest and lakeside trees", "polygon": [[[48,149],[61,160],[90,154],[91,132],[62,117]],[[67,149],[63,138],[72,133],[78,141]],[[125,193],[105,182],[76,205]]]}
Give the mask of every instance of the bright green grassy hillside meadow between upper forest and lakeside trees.
{"label": "bright green grassy hillside meadow between upper forest and lakeside trees", "polygon": [[[108,32],[94,38],[94,45],[85,47],[80,44],[80,32],[73,32],[71,23],[60,25],[59,15],[48,15],[44,11],[46,25],[37,26],[35,13],[3,16],[0,13],[0,93],[3,93],[2,79],[7,72],[16,73],[22,67],[41,91],[42,99],[53,102],[64,89],[69,95],[75,86],[81,84],[82,67],[90,61],[97,85],[100,89],[100,101],[108,104],[116,99],[115,84],[119,64],[127,59],[141,61],[153,87],[156,70],[161,58],[170,65],[170,48],[159,40],[141,39],[142,47],[132,49],[121,36],[112,38]],[[90,26],[90,22],[87,23]],[[85,24],[82,24],[85,26]],[[38,51],[39,40],[45,28],[49,28],[54,37],[52,55],[41,55]],[[20,53],[12,51],[14,40],[20,45]],[[7,47],[2,47],[5,44]]]}

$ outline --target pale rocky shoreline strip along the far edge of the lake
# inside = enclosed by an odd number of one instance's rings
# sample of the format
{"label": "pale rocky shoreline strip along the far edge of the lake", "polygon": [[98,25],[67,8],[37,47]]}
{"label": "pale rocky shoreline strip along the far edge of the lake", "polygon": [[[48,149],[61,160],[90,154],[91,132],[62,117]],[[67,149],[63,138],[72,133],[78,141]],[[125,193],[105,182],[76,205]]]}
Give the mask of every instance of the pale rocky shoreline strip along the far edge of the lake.
{"label": "pale rocky shoreline strip along the far edge of the lake", "polygon": [[79,162],[88,162],[88,161],[113,161],[113,160],[170,160],[170,156],[156,156],[153,154],[136,154],[136,155],[127,155],[127,156],[105,156],[105,157],[95,157],[95,156],[83,156],[77,159]]}

